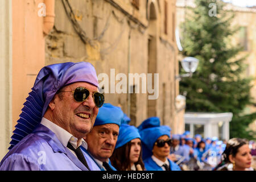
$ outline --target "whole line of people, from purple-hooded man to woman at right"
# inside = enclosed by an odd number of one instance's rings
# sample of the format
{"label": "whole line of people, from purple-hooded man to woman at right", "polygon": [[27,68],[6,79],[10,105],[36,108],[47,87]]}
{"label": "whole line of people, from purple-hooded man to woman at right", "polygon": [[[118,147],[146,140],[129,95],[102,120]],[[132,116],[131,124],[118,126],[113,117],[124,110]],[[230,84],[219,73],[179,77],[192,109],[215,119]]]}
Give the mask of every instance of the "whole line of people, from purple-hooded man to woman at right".
{"label": "whole line of people, from purple-hooded man to woman at right", "polygon": [[245,139],[172,134],[158,117],[131,126],[120,107],[104,100],[92,64],[42,68],[0,170],[252,170]]}

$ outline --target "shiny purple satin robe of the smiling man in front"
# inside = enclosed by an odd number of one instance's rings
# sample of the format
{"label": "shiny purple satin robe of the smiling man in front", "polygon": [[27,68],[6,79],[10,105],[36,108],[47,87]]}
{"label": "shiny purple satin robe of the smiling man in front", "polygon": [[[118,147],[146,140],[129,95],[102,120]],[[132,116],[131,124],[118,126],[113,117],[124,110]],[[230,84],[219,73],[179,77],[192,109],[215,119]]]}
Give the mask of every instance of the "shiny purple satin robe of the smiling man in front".
{"label": "shiny purple satin robe of the smiling man in front", "polygon": [[[83,151],[82,151],[83,152]],[[83,152],[92,171],[100,171],[97,164]],[[79,159],[61,144],[55,133],[39,124],[2,159],[4,171],[88,171]]]}

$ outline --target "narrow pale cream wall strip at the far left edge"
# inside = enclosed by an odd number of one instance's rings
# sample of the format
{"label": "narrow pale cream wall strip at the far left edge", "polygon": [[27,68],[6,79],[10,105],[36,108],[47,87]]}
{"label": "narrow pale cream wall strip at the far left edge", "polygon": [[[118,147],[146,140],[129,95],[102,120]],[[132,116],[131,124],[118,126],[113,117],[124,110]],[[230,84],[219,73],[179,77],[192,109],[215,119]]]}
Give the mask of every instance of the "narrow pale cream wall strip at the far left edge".
{"label": "narrow pale cream wall strip at the far left edge", "polygon": [[0,1],[0,159],[5,156],[11,136],[12,35],[11,3]]}

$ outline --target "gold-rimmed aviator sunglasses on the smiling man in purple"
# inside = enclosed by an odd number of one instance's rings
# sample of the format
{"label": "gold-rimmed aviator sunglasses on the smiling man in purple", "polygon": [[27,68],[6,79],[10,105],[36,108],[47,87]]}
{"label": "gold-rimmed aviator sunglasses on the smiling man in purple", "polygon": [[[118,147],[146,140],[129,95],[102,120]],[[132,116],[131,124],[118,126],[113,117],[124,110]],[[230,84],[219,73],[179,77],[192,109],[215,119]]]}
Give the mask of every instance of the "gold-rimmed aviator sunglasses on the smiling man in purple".
{"label": "gold-rimmed aviator sunglasses on the smiling man in purple", "polygon": [[[60,92],[73,92],[74,98],[77,102],[84,102],[90,95],[90,91],[84,87],[77,87],[75,91],[60,91]],[[104,104],[104,94],[100,92],[92,93],[94,104],[101,107]]]}

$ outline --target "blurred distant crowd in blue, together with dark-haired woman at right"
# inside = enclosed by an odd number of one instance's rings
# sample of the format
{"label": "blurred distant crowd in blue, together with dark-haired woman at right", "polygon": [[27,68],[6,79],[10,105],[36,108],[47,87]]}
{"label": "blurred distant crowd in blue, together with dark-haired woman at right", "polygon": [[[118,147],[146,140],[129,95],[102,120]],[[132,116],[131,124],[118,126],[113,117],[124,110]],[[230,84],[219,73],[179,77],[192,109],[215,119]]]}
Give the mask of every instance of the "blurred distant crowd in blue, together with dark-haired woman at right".
{"label": "blurred distant crowd in blue, together with dark-haired woman at right", "polygon": [[[234,146],[230,144],[234,140],[237,141],[238,146],[245,145],[243,146],[245,150],[240,148],[240,152],[245,156],[243,163],[247,163],[244,168],[240,168],[240,164],[236,166],[236,162],[233,160],[231,162],[231,160],[227,160],[228,158],[225,157],[237,155],[238,150],[234,152]],[[218,140],[217,137],[204,139],[200,134],[196,134],[194,138],[191,138],[189,131],[185,131],[181,135],[172,135],[170,154],[169,158],[177,162],[184,170],[224,170],[224,166],[228,164],[231,164],[229,165],[229,170],[253,169],[251,168],[252,156],[250,154],[249,143],[247,140],[240,138],[232,138],[228,142],[226,140]]]}

